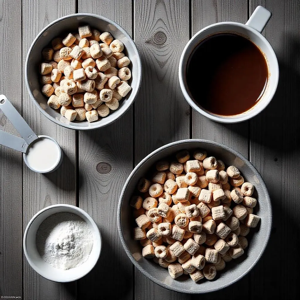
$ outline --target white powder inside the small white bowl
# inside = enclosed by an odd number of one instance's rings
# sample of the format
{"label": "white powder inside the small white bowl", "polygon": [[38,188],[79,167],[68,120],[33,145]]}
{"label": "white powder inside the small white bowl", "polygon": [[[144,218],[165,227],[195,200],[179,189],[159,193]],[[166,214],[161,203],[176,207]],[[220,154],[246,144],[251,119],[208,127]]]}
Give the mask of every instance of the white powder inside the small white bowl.
{"label": "white powder inside the small white bowl", "polygon": [[45,262],[54,268],[68,270],[88,259],[93,247],[93,234],[81,217],[59,212],[41,223],[36,244]]}

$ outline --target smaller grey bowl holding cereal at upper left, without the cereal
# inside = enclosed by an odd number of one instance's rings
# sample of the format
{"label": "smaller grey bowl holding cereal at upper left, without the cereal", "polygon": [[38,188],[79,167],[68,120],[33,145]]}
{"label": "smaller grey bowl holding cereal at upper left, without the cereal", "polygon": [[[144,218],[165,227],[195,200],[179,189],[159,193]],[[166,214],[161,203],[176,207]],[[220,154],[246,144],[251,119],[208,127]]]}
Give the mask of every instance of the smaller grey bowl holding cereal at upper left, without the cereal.
{"label": "smaller grey bowl holding cereal at upper left, without the cereal", "polygon": [[[125,54],[131,60],[129,68],[131,69],[132,77],[129,80],[132,90],[128,95],[120,101],[120,106],[116,111],[111,112],[106,118],[99,119],[96,122],[69,122],[61,116],[59,110],[53,110],[47,105],[47,98],[41,93],[41,84],[39,82],[38,66],[42,61],[41,51],[43,48],[51,44],[51,40],[68,32],[76,32],[80,24],[89,24],[91,27],[98,29],[100,32],[108,31],[114,38],[123,42]],[[140,88],[142,79],[142,65],[139,52],[134,44],[134,41],[128,33],[117,23],[110,19],[104,18],[90,13],[76,13],[61,17],[46,26],[32,42],[25,64],[25,81],[27,90],[32,101],[52,122],[66,128],[76,130],[90,130],[104,127],[117,119],[119,119],[134,102],[135,97]]]}

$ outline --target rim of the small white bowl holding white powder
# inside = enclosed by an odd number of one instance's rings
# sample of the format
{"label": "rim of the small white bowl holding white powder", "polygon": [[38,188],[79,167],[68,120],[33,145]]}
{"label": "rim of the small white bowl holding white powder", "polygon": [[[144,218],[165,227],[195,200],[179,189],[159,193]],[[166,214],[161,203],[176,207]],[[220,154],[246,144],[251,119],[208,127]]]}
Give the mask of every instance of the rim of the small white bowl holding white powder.
{"label": "rim of the small white bowl holding white powder", "polygon": [[[35,221],[35,219],[43,214],[45,211],[49,210],[49,209],[52,209],[52,208],[57,208],[57,207],[67,207],[67,208],[70,208],[72,210],[75,210],[75,211],[78,211],[79,214],[85,216],[90,222],[91,224],[93,225],[93,227],[97,230],[95,230],[96,232],[96,237],[94,239],[96,240],[99,240],[100,241],[100,249],[99,249],[99,253],[97,253],[97,255],[95,256],[95,264],[92,265],[91,268],[88,268],[85,272],[83,272],[82,274],[72,278],[72,279],[68,279],[68,280],[54,280],[53,277],[51,276],[48,276],[48,274],[41,274],[38,272],[38,270],[35,268],[35,264],[33,262],[33,260],[31,259],[31,257],[29,256],[29,253],[27,251],[27,236],[28,236],[28,232],[30,230],[30,227],[32,225],[32,223]],[[86,274],[88,274],[94,267],[95,265],[97,264],[98,260],[99,260],[99,257],[101,255],[101,251],[102,251],[102,236],[101,236],[101,232],[98,228],[98,225],[97,223],[94,221],[94,219],[86,212],[84,211],[83,209],[77,207],[77,206],[74,206],[74,205],[70,205],[70,204],[54,204],[54,205],[50,205],[50,206],[47,206],[43,209],[41,209],[40,211],[38,211],[31,219],[30,221],[28,222],[27,226],[26,226],[26,229],[25,229],[25,232],[24,232],[24,236],[23,236],[23,249],[24,249],[24,254],[26,256],[26,259],[29,263],[29,265],[38,273],[40,274],[42,277],[48,279],[48,280],[51,280],[51,281],[54,281],[54,282],[72,282],[72,281],[75,281],[75,280],[78,280],[80,278],[82,278],[83,276],[85,276]]]}

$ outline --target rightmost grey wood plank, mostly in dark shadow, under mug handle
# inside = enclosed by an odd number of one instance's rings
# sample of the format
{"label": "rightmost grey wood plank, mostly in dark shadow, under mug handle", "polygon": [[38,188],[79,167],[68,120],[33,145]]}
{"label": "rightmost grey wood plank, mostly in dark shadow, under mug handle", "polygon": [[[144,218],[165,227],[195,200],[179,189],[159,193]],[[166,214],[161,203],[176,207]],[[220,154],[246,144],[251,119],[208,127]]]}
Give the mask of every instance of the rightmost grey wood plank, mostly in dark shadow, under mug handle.
{"label": "rightmost grey wood plank, mostly in dark shadow, under mug handle", "polygon": [[[273,206],[268,247],[251,272],[251,299],[294,299],[299,277],[299,128],[300,128],[300,6],[299,1],[250,1],[250,12],[262,5],[272,12],[263,34],[279,62],[279,85],[269,106],[250,121],[251,162],[262,175]],[[282,242],[278,242],[282,241]],[[275,250],[276,249],[276,250]],[[277,253],[294,257],[278,260]],[[276,261],[276,263],[274,263]]]}

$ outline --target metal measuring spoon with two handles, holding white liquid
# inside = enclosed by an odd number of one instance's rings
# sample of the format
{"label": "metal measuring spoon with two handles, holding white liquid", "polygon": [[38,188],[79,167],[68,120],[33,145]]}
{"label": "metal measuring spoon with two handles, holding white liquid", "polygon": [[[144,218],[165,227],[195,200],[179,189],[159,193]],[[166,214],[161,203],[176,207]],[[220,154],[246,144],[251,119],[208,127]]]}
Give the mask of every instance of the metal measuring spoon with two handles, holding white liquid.
{"label": "metal measuring spoon with two handles, holding white liquid", "polygon": [[[63,160],[63,152],[58,143],[52,137],[37,136],[4,95],[0,95],[0,109],[22,137],[0,130],[0,144],[22,152],[25,164],[36,173],[51,173],[57,170]],[[54,150],[51,154],[52,160],[55,160],[48,165],[49,157],[47,161],[46,155],[43,157],[44,153],[42,153],[46,145]],[[33,155],[34,160],[32,160]]]}

